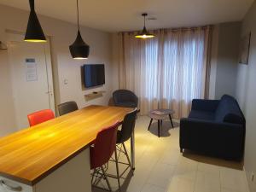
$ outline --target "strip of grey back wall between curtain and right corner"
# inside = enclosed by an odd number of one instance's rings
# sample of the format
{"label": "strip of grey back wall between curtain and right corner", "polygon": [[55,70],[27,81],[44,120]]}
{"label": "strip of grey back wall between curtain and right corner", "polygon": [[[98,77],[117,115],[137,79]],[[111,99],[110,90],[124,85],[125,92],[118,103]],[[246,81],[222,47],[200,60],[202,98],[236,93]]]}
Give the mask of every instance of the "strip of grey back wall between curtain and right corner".
{"label": "strip of grey back wall between curtain and right corner", "polygon": [[214,26],[209,91],[211,99],[219,99],[224,94],[236,95],[240,32],[241,22]]}

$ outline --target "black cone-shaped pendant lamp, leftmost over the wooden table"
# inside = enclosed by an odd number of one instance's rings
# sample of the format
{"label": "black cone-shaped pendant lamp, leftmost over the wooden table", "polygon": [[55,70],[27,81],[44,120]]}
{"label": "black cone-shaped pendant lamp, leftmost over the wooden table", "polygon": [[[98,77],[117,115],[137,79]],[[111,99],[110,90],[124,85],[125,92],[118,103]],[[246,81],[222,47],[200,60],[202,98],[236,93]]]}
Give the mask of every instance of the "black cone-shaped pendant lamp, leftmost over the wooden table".
{"label": "black cone-shaped pendant lamp, leftmost over the wooden table", "polygon": [[38,16],[35,11],[34,0],[29,0],[30,15],[26,26],[26,35],[24,41],[26,42],[46,42],[43,29],[39,23]]}

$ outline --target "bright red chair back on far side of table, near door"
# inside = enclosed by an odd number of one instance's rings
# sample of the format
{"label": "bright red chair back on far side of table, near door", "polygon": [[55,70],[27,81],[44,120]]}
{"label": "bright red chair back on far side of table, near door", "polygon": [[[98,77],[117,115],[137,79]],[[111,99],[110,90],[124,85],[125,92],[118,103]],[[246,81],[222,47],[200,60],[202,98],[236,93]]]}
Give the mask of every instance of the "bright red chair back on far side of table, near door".
{"label": "bright red chair back on far side of table, near door", "polygon": [[30,126],[38,125],[44,121],[55,119],[55,113],[53,113],[53,111],[50,109],[44,109],[35,113],[28,114],[27,119]]}

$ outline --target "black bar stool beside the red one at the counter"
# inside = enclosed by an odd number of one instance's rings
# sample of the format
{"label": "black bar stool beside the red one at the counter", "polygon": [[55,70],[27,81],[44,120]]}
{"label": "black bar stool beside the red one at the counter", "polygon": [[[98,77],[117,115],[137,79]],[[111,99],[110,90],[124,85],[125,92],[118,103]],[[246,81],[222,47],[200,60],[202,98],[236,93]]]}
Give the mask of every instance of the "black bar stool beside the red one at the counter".
{"label": "black bar stool beside the red one at the counter", "polygon": [[[120,189],[120,178],[122,178],[122,176],[125,174],[125,172],[128,170],[129,167],[132,170],[131,160],[125,148],[125,142],[131,138],[131,133],[132,131],[134,131],[136,115],[137,115],[137,108],[135,108],[132,112],[127,113],[125,115],[125,119],[123,121],[121,130],[117,132],[116,150],[114,152],[115,159],[113,161],[115,162],[115,165],[116,165],[117,177],[115,178],[118,179],[119,189]],[[119,151],[119,154],[117,154],[117,151]],[[128,163],[119,161],[120,153],[125,154]],[[119,164],[127,166],[124,172],[122,172],[121,174],[119,174]]]}

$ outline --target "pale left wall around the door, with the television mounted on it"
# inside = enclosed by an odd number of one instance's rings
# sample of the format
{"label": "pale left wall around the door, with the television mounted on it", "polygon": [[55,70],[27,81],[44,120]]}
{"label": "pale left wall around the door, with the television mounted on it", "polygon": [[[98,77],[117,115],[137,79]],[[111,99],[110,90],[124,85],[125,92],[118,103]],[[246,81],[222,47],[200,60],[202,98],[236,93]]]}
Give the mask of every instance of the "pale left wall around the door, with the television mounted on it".
{"label": "pale left wall around the door, with the television mounted on it", "polygon": [[[74,13],[76,14],[76,13]],[[6,42],[6,30],[26,31],[29,13],[0,5],[0,41]],[[55,104],[67,101],[78,102],[79,108],[89,104],[107,105],[112,94],[113,67],[111,65],[111,35],[88,27],[81,27],[84,41],[90,44],[90,56],[87,61],[75,61],[71,58],[68,46],[76,38],[77,26],[49,17],[40,16],[44,33],[51,38],[52,64],[55,81]],[[15,131],[14,106],[11,93],[7,51],[0,50],[0,137]],[[92,90],[83,90],[80,67],[84,63],[104,63],[106,84]],[[64,79],[68,84],[64,84]],[[96,90],[106,90],[103,97],[85,102],[84,95]]]}

